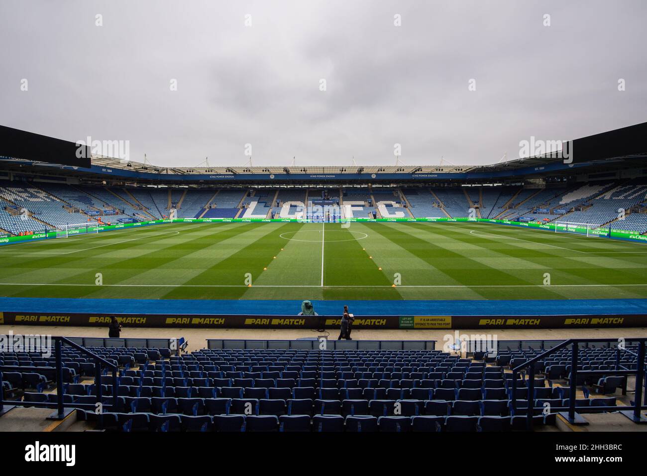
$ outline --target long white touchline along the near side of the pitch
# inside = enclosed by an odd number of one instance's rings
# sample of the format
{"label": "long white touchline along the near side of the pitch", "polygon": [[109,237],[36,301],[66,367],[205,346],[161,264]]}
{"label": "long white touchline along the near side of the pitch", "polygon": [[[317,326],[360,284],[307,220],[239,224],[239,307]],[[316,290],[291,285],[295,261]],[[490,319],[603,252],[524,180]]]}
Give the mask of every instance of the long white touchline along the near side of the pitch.
{"label": "long white touchline along the near side of the pitch", "polygon": [[[33,282],[0,282],[0,286],[93,286],[94,288],[248,288],[247,284],[56,284]],[[647,286],[640,284],[428,284],[406,285],[400,284],[397,288],[616,288],[619,286]],[[319,285],[307,284],[255,284],[253,288],[321,288]],[[357,286],[327,285],[324,288],[393,288],[390,284],[361,284]]]}

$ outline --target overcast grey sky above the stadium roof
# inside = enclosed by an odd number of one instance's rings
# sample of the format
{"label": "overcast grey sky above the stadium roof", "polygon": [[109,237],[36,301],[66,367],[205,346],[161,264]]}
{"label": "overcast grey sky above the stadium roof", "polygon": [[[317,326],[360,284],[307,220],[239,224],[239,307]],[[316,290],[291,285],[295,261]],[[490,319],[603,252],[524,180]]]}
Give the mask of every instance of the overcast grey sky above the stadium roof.
{"label": "overcast grey sky above the stadium roof", "polygon": [[643,0],[2,0],[0,124],[164,166],[496,163],[646,121],[646,24]]}

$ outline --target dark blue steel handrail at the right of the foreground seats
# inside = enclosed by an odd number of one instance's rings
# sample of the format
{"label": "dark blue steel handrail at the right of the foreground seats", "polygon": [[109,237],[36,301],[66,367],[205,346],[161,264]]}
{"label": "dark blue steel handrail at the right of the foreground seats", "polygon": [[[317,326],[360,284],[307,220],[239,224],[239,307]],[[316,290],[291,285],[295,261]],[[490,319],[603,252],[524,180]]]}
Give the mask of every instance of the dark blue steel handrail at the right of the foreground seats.
{"label": "dark blue steel handrail at the right of the foreground seats", "polygon": [[[554,354],[558,350],[562,350],[563,348],[571,345],[571,376],[570,376],[570,392],[569,392],[569,406],[568,406],[568,420],[569,423],[573,424],[575,422],[575,393],[577,389],[577,376],[578,374],[584,374],[584,375],[604,375],[604,374],[615,374],[615,375],[634,375],[636,376],[636,381],[635,381],[635,404],[632,406],[623,406],[623,407],[604,407],[607,411],[609,409],[614,409],[614,410],[632,410],[633,411],[633,421],[634,422],[639,422],[641,421],[641,410],[642,409],[647,409],[647,380],[644,378],[644,360],[645,360],[645,343],[647,341],[647,338],[642,337],[642,338],[636,338],[633,337],[631,339],[625,339],[631,340],[633,342],[639,343],[638,346],[638,352],[632,352],[627,349],[622,349],[626,352],[630,352],[631,355],[638,357],[638,362],[637,362],[637,369],[636,370],[630,370],[626,369],[625,370],[619,370],[618,367],[624,367],[624,365],[619,364],[619,356],[620,356],[620,348],[617,349],[617,354],[616,354],[616,368],[615,370],[577,370],[577,362],[578,362],[578,351],[579,351],[579,343],[585,342],[609,342],[612,339],[568,339],[567,341],[562,342],[559,345],[554,346],[553,348],[546,350],[545,352],[542,352],[542,354],[539,354],[538,356],[532,357],[532,359],[525,361],[524,363],[521,363],[517,367],[512,368],[512,396],[510,398],[511,403],[512,403],[512,409],[513,411],[516,411],[516,389],[517,389],[517,374],[521,370],[523,370],[526,367],[529,367],[529,375],[530,375],[530,380],[528,382],[528,397],[527,397],[527,408],[526,408],[526,413],[527,413],[527,428],[532,429],[532,416],[534,416],[534,411],[536,409],[541,409],[540,407],[535,407],[534,406],[534,365],[538,361],[542,360],[544,357],[547,357],[551,354]],[[643,389],[642,385],[645,385],[644,389],[644,399],[645,402],[642,403],[641,401],[643,398]],[[564,407],[558,407],[559,409],[562,409]]]}

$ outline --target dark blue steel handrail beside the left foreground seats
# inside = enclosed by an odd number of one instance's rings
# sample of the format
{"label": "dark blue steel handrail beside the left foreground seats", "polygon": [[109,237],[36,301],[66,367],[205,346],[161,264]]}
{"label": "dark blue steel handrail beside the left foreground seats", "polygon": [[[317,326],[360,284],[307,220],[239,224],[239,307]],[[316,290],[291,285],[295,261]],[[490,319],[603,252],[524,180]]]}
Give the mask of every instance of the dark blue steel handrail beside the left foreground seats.
{"label": "dark blue steel handrail beside the left foreground seats", "polygon": [[[87,405],[92,405],[91,403],[64,403],[63,402],[63,361],[62,358],[63,356],[61,355],[61,350],[63,348],[63,343],[65,345],[70,346],[72,348],[75,348],[76,350],[82,352],[82,354],[85,354],[89,357],[92,357],[94,359],[94,369],[95,369],[95,374],[94,374],[94,389],[96,391],[96,402],[101,403],[102,402],[102,385],[101,385],[101,367],[102,365],[104,367],[107,367],[109,370],[112,370],[113,372],[113,407],[116,408],[117,406],[117,372],[119,370],[119,367],[110,361],[107,361],[103,357],[100,357],[94,352],[91,352],[90,350],[87,350],[87,348],[82,347],[74,342],[72,342],[70,339],[67,339],[67,337],[52,337],[54,340],[54,346],[56,350],[56,395],[57,395],[57,400],[56,403],[49,403],[49,402],[23,402],[23,401],[14,401],[14,400],[5,400],[4,394],[3,394],[3,388],[2,388],[2,372],[0,372],[0,413],[3,410],[4,405],[15,405],[15,406],[25,406],[28,405],[30,407],[43,407],[43,408],[49,408],[49,407],[54,407],[56,405],[56,418],[62,419],[65,417],[65,407],[84,407]],[[10,367],[10,366],[0,366],[0,367]],[[44,367],[34,367],[34,368],[44,368]],[[94,406],[94,405],[92,405]]]}

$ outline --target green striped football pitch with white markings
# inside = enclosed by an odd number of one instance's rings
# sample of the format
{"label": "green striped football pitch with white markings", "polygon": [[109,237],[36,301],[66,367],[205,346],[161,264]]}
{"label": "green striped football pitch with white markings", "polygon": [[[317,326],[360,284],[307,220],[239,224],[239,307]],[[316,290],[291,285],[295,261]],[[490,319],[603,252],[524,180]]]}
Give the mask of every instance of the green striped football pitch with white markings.
{"label": "green striped football pitch with white markings", "polygon": [[0,260],[3,297],[647,297],[645,245],[485,223],[176,223],[5,245]]}

